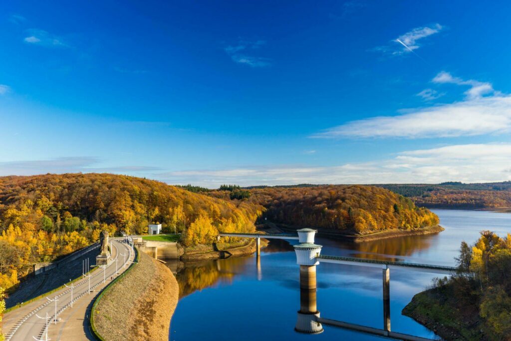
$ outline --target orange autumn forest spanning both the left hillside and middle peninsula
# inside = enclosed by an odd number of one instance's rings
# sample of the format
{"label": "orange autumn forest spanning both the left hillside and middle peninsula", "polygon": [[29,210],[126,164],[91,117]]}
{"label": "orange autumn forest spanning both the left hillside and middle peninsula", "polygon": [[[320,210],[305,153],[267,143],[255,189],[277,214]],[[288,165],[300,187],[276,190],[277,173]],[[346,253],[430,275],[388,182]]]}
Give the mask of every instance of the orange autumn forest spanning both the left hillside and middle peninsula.
{"label": "orange autumn forest spanning both the left hillside and middle peninsula", "polygon": [[0,286],[14,287],[32,264],[95,242],[103,230],[146,234],[149,223],[182,233],[184,246],[211,244],[218,232],[254,232],[258,219],[364,234],[420,229],[436,215],[373,186],[211,191],[112,174],[0,177]]}

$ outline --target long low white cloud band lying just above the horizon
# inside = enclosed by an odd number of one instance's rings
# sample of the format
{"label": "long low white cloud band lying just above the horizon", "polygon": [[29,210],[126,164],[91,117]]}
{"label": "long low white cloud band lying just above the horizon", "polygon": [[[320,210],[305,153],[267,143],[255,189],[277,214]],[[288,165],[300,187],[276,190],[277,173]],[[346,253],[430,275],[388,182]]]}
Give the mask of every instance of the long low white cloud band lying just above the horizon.
{"label": "long low white cloud band lying just above the horizon", "polygon": [[196,184],[217,188],[224,183],[285,184],[385,184],[489,182],[511,179],[511,144],[469,144],[411,150],[378,162],[333,167],[260,167],[225,170],[191,170],[159,174],[169,184]]}

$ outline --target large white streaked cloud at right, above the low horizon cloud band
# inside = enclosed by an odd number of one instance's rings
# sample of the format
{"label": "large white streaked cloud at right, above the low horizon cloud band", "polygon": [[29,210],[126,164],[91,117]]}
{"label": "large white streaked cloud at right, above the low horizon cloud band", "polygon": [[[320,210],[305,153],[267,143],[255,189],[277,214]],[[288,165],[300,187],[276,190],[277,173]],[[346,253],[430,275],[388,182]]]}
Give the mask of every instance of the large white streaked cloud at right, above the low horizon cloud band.
{"label": "large white streaked cloud at right, above the low horizon cloud band", "polygon": [[[511,96],[495,92],[490,83],[462,80],[440,72],[435,83],[471,86],[467,98],[409,110],[405,115],[352,121],[313,135],[314,138],[437,138],[511,131]],[[491,93],[491,96],[483,96]]]}

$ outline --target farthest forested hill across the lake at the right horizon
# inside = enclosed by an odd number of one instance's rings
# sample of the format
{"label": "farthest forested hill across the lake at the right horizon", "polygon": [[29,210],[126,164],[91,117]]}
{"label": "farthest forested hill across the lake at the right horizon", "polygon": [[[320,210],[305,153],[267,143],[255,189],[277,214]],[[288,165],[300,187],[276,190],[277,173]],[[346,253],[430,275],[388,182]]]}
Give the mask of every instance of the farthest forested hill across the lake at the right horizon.
{"label": "farthest forested hill across the lake at the right horizon", "polygon": [[511,207],[511,181],[463,184],[452,181],[438,185],[375,185],[412,199],[418,206],[430,208],[507,208]]}

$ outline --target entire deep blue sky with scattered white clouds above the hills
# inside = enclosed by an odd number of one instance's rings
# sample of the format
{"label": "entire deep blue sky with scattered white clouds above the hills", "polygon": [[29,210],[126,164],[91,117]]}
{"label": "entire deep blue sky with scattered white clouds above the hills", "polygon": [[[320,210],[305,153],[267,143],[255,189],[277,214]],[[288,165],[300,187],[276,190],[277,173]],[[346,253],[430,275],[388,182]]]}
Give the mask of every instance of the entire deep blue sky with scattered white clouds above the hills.
{"label": "entire deep blue sky with scattered white clouds above the hills", "polygon": [[0,4],[0,175],[511,179],[505,1]]}

